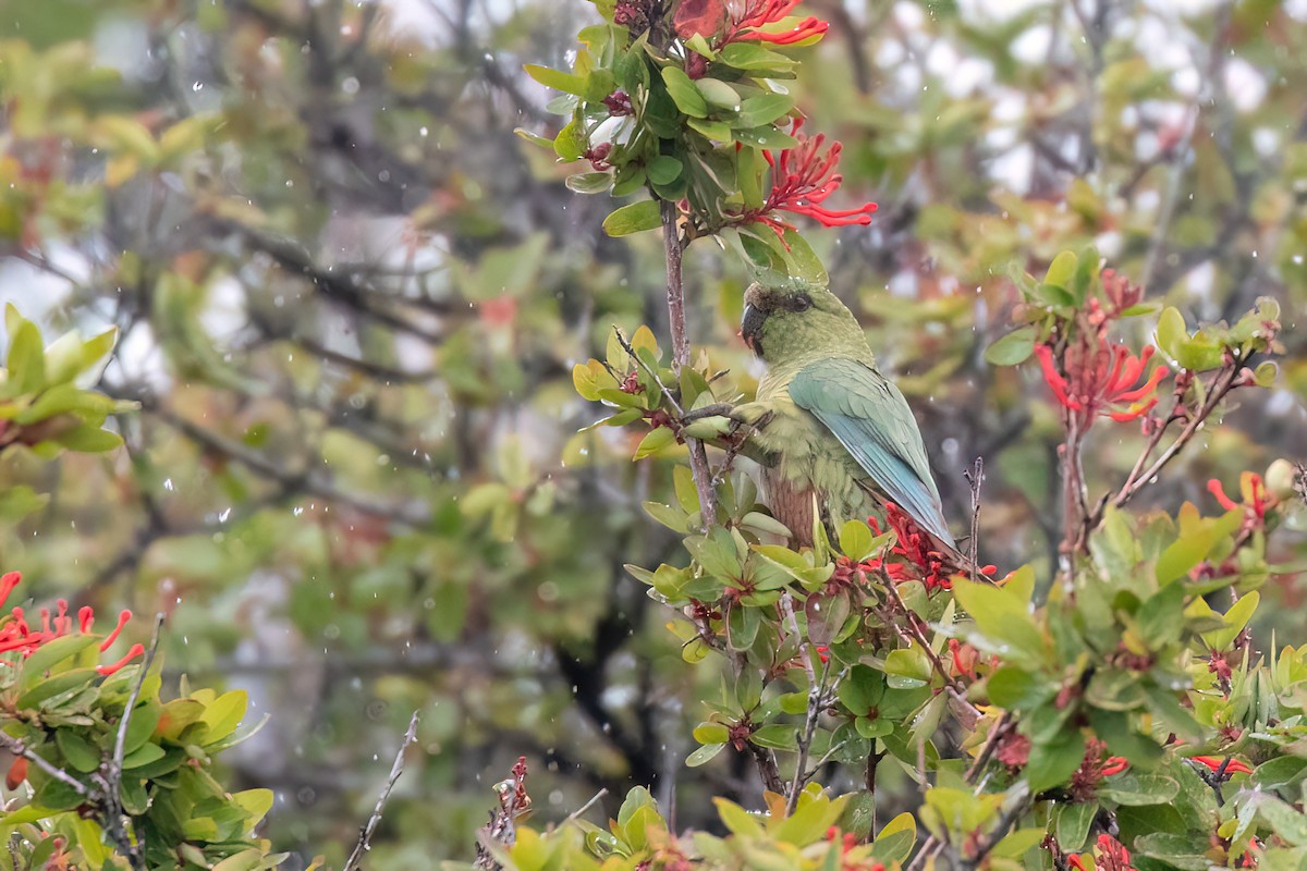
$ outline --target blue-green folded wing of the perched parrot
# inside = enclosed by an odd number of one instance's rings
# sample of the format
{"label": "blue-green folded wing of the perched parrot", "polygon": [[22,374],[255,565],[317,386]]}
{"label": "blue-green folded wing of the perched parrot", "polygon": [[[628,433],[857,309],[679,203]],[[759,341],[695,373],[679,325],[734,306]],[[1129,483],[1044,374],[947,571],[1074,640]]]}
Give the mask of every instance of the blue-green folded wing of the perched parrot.
{"label": "blue-green folded wing of the perched parrot", "polygon": [[897,387],[860,360],[831,358],[800,370],[789,383],[789,397],[839,439],[886,496],[955,547],[921,432]]}

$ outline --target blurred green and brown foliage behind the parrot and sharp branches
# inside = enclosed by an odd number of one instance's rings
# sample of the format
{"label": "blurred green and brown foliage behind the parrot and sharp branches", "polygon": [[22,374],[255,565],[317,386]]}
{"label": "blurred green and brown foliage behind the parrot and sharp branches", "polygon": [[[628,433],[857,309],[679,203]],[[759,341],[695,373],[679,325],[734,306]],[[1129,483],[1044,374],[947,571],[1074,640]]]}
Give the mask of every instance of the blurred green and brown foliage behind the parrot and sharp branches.
{"label": "blurred green and brown foliage behind the parrot and sharp branches", "polygon": [[[848,202],[881,204],[812,239],[959,526],[962,469],[985,458],[987,560],[1056,548],[1056,410],[1038,372],[982,354],[1013,270],[1064,248],[1097,244],[1191,324],[1281,300],[1276,389],[1151,499],[1208,503],[1208,478],[1303,458],[1307,3],[809,7],[833,26],[799,104],[843,140]],[[339,864],[412,709],[378,867],[469,855],[519,753],[537,819],[600,787],[613,812],[635,784],[674,795],[678,827],[754,795],[740,756],[684,768],[712,687],[622,568],[685,559],[639,508],[670,464],[630,462],[639,431],[578,434],[600,413],[571,366],[614,324],[665,334],[661,244],[606,239],[612,204],[514,135],[561,124],[521,64],[565,65],[591,18],[0,0],[0,299],[48,336],[118,326],[101,387],[141,404],[116,417],[125,449],[0,457],[0,568],[38,599],[169,611],[170,670],[272,714],[227,756],[234,787],[276,791],[280,849]],[[686,274],[697,347],[748,387],[740,265],[701,243]],[[1090,478],[1133,458],[1117,432]],[[1274,556],[1300,559],[1302,530],[1286,541]],[[1285,605],[1265,639],[1300,637],[1303,590],[1264,594]]]}

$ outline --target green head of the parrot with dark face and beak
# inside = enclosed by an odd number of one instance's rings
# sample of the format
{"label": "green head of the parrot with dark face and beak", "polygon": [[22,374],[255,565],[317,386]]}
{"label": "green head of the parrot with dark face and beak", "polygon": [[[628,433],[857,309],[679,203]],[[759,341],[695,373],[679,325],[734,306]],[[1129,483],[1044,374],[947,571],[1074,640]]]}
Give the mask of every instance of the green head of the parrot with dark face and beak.
{"label": "green head of the parrot with dark face and beak", "polygon": [[769,364],[823,350],[870,354],[853,313],[830,290],[814,285],[750,286],[740,336]]}

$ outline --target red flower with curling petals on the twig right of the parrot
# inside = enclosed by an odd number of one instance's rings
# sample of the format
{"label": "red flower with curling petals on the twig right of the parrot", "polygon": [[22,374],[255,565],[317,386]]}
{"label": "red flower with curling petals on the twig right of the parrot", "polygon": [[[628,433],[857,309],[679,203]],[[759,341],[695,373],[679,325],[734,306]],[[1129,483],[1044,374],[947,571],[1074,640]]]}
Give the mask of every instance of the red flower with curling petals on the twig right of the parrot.
{"label": "red flower with curling petals on the twig right of the parrot", "polygon": [[1151,345],[1134,356],[1124,345],[1108,345],[1102,333],[1090,347],[1086,349],[1086,343],[1073,342],[1067,347],[1067,375],[1057,371],[1050,346],[1035,349],[1048,388],[1064,407],[1078,414],[1082,424],[1089,424],[1099,414],[1114,420],[1134,420],[1157,405],[1157,397],[1151,394],[1170,373],[1167,367],[1157,367],[1144,384],[1136,387],[1153,356]]}

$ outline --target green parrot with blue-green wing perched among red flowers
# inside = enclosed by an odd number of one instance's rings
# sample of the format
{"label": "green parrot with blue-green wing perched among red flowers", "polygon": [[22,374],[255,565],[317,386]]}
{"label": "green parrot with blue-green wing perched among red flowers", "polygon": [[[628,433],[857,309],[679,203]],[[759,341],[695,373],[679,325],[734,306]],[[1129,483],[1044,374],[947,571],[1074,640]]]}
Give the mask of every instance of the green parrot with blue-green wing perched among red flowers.
{"label": "green parrot with blue-green wing perched among red flowers", "polygon": [[912,410],[852,312],[819,286],[753,285],[744,300],[740,334],[767,372],[732,418],[753,427],[776,520],[812,545],[814,520],[838,530],[893,501],[958,558]]}

